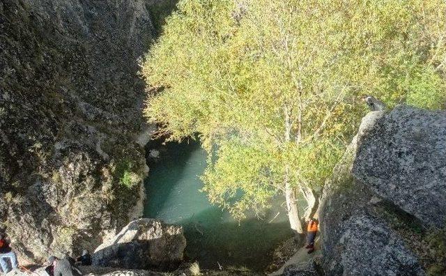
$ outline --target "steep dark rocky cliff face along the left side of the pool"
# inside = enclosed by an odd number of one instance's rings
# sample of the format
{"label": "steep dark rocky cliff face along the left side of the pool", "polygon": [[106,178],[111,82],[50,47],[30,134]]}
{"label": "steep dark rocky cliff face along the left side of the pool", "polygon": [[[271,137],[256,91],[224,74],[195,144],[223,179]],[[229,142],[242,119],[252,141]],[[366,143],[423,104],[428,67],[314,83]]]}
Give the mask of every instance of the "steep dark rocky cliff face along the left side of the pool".
{"label": "steep dark rocky cliff face along the left side of the pool", "polygon": [[139,213],[151,3],[0,2],[0,229],[22,263],[92,251]]}

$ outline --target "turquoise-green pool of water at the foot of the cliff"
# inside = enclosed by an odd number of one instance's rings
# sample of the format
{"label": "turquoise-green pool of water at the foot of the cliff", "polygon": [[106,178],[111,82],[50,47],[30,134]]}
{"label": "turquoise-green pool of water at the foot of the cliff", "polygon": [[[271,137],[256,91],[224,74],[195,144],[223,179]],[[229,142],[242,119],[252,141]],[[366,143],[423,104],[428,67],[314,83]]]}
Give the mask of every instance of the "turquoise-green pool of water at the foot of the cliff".
{"label": "turquoise-green pool of water at the foot of the cliff", "polygon": [[199,192],[206,152],[197,142],[162,145],[152,141],[147,152],[150,172],[144,215],[182,225],[186,258],[198,261],[201,268],[218,269],[220,264],[224,269],[263,270],[272,250],[292,236],[283,200],[277,200],[264,220],[251,216],[240,224],[210,205],[206,194]]}

